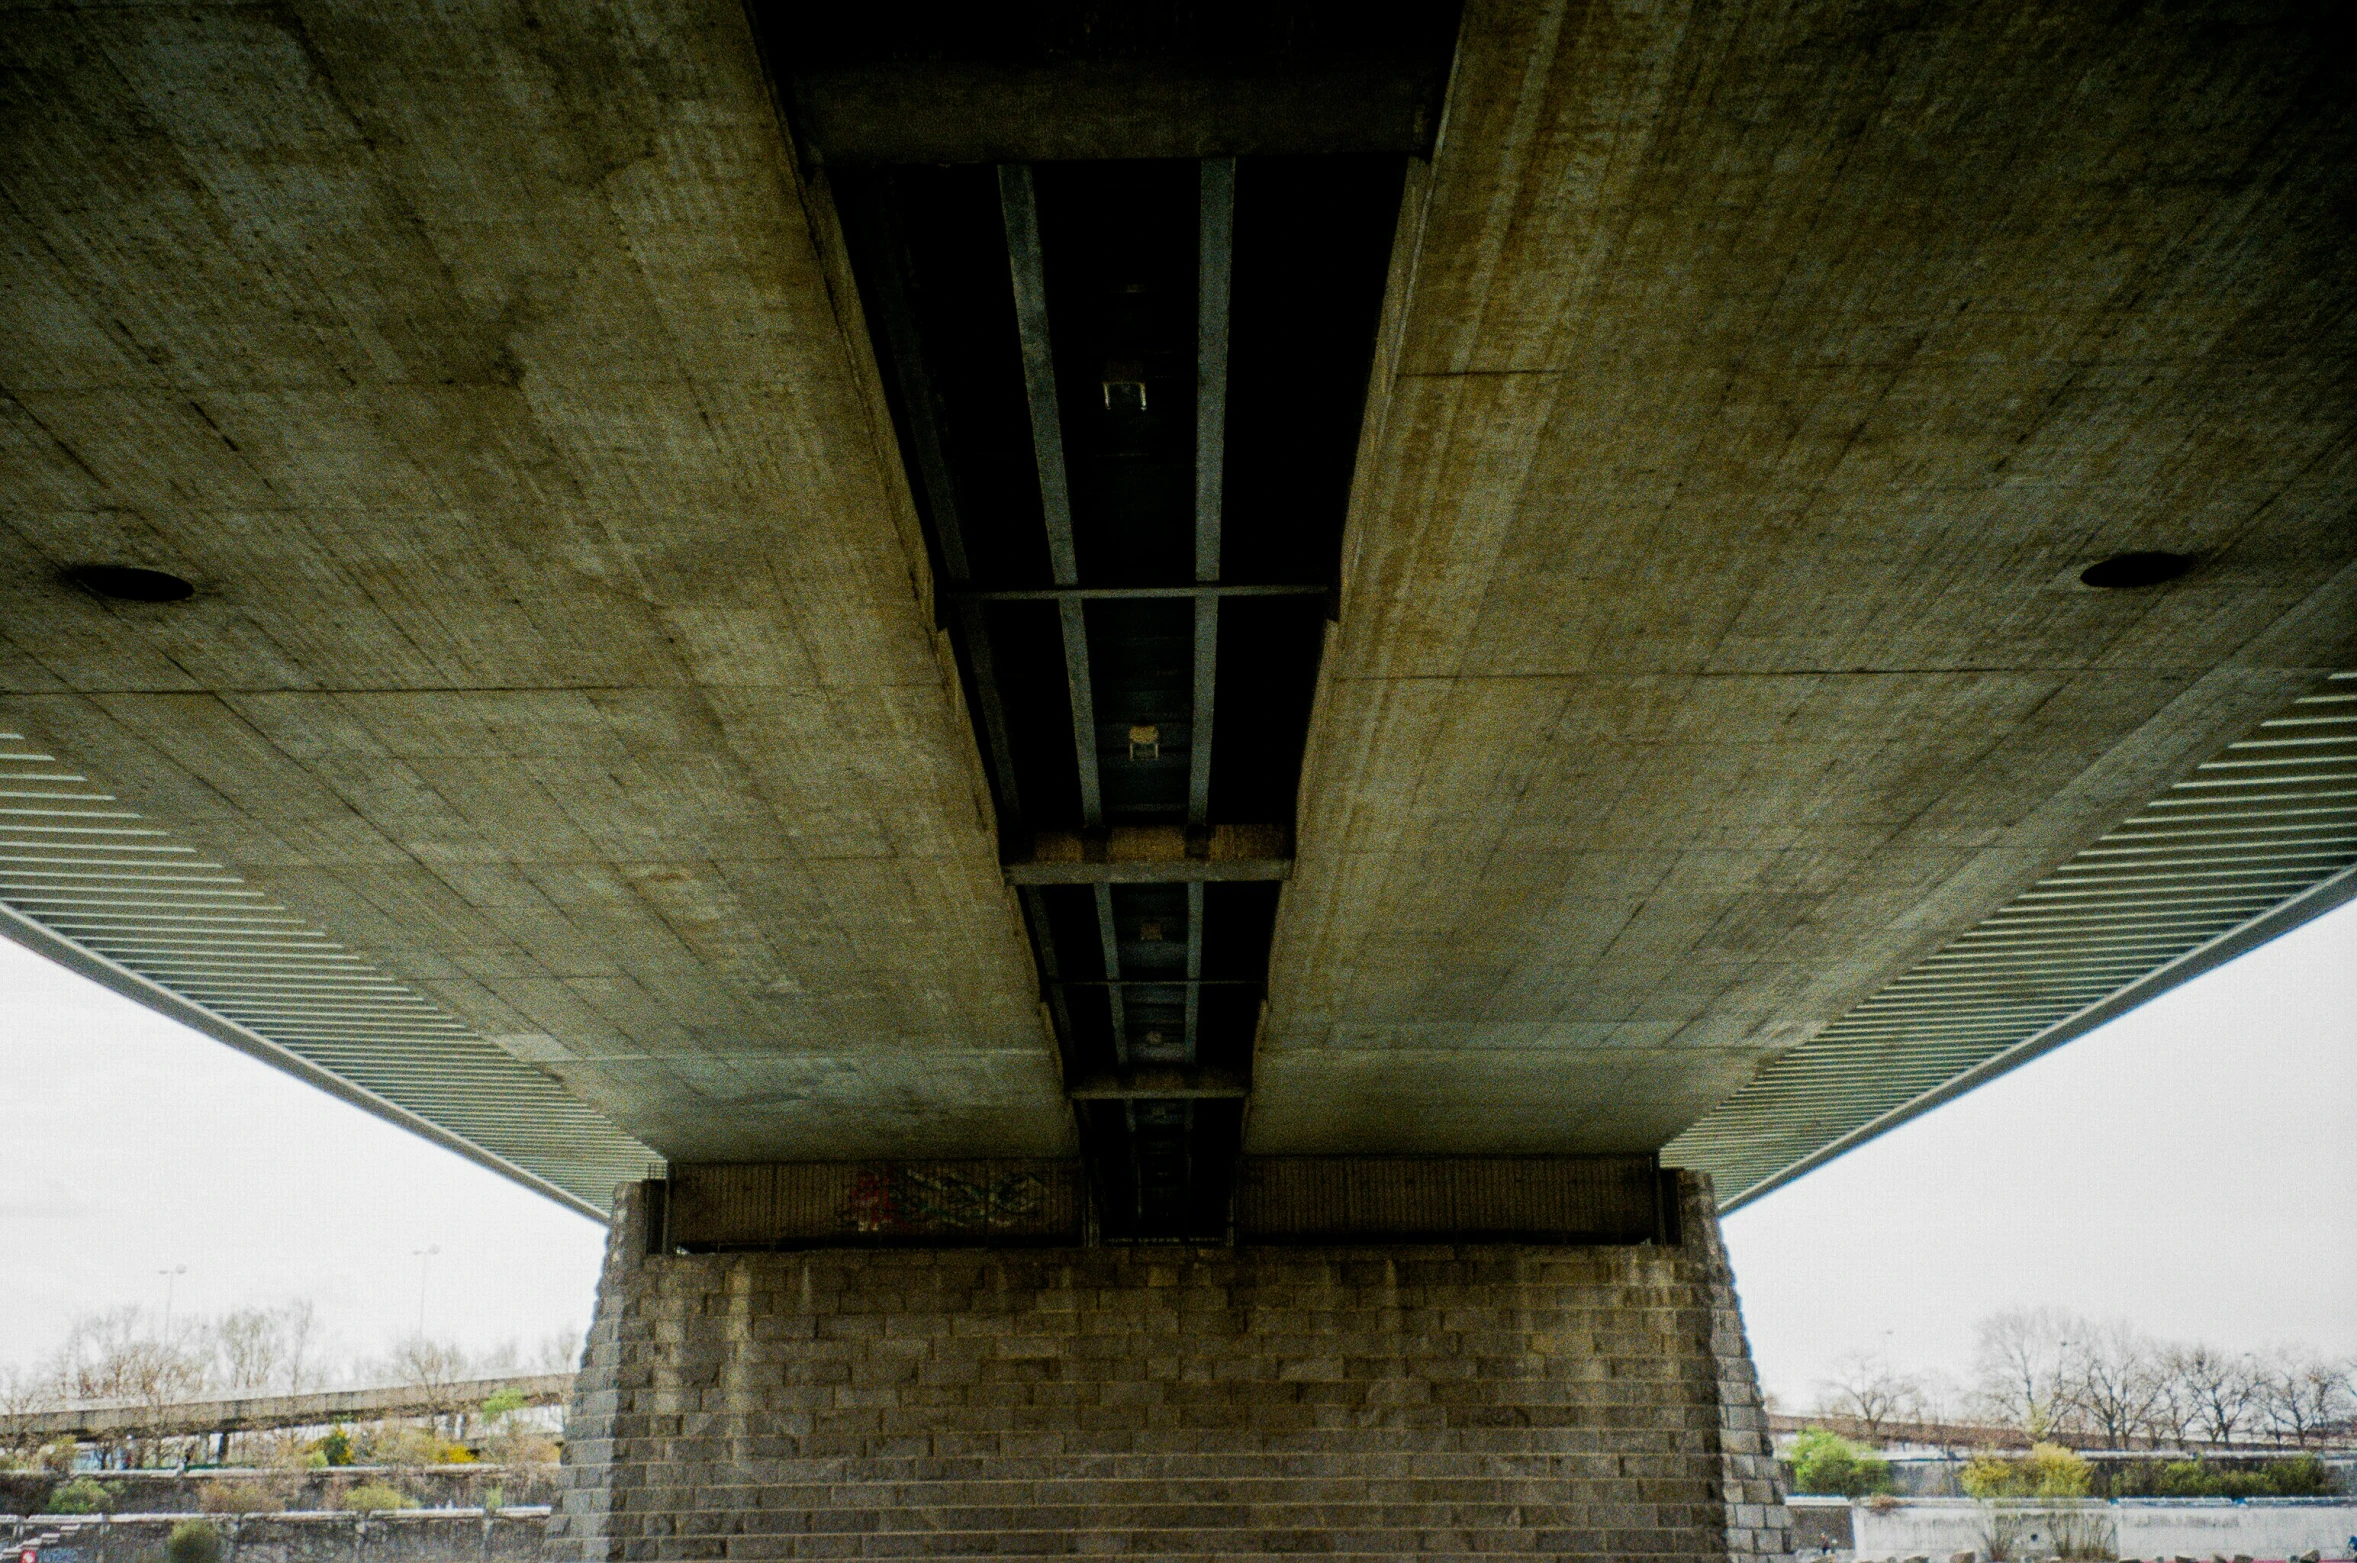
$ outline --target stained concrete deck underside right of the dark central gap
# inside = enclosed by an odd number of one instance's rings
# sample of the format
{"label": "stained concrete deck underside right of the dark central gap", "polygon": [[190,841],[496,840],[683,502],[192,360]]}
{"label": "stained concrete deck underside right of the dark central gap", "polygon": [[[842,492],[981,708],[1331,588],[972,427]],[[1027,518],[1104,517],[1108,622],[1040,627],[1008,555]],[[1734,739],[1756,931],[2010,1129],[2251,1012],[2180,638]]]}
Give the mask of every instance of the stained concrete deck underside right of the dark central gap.
{"label": "stained concrete deck underside right of the dark central gap", "polygon": [[2348,665],[2298,17],[1468,7],[1252,1150],[1659,1146]]}

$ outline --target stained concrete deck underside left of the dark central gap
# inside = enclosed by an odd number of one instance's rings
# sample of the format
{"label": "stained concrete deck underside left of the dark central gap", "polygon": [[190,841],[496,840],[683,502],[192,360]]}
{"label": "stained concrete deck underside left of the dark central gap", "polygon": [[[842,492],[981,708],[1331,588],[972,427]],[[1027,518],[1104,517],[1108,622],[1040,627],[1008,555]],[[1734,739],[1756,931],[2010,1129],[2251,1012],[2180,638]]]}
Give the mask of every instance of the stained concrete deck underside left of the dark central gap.
{"label": "stained concrete deck underside left of the dark central gap", "polygon": [[0,724],[669,1155],[1065,1148],[740,7],[16,7],[0,59]]}

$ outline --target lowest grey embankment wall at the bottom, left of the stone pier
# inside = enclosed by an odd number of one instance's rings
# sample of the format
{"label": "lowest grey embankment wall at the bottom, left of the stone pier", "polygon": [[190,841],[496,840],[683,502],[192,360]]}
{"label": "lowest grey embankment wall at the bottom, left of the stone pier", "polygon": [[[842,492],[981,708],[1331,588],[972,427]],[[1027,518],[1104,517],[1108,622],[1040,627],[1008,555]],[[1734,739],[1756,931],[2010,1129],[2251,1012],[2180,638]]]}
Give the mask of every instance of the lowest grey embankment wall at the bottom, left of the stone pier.
{"label": "lowest grey embankment wall at the bottom, left of the stone pier", "polygon": [[205,1521],[222,1563],[535,1563],[549,1511],[408,1509],[391,1513],[31,1513],[0,1516],[14,1561],[160,1563],[172,1528]]}

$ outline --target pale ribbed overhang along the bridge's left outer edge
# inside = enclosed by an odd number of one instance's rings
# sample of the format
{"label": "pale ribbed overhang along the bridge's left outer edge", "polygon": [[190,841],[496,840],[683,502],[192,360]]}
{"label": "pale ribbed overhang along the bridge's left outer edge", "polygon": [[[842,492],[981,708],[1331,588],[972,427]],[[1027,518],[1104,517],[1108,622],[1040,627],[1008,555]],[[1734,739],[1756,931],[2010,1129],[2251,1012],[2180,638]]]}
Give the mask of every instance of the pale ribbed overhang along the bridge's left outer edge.
{"label": "pale ribbed overhang along the bridge's left outer edge", "polygon": [[24,733],[0,733],[0,934],[582,1214],[658,1160]]}

